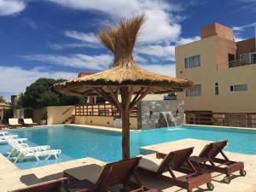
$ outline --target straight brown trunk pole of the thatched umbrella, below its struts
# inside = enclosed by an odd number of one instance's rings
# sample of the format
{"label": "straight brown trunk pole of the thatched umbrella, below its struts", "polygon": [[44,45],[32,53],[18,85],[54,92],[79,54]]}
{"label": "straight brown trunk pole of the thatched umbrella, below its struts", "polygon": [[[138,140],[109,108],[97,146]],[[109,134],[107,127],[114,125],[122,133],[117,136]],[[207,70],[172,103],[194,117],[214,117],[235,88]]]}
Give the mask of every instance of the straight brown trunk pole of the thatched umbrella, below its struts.
{"label": "straight brown trunk pole of the thatched umbrella, below its struts", "polygon": [[124,111],[122,115],[122,148],[123,160],[130,158],[130,122],[129,111]]}

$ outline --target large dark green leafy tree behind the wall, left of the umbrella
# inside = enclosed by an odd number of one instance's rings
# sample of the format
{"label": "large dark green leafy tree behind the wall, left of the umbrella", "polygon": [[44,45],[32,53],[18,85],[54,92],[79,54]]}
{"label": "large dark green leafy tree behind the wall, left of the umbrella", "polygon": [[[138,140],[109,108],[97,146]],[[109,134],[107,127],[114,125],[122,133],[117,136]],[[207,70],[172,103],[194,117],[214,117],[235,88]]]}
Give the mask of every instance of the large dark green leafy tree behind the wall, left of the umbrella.
{"label": "large dark green leafy tree behind the wall, left of the umbrella", "polygon": [[61,106],[84,104],[87,98],[84,96],[62,96],[57,93],[53,85],[61,83],[64,79],[38,79],[28,87],[24,94],[20,95],[20,104],[23,108],[44,108],[46,106]]}

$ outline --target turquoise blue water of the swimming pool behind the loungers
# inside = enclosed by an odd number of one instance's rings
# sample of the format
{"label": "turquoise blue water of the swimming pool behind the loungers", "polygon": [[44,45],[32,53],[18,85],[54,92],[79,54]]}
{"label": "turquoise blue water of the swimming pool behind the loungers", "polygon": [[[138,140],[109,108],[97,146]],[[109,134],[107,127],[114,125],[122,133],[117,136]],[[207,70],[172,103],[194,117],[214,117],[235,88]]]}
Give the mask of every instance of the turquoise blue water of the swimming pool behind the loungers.
{"label": "turquoise blue water of the swimming pool behind the loungers", "polygon": [[[20,169],[45,166],[84,157],[93,157],[106,162],[121,159],[120,132],[79,128],[72,125],[30,128],[9,132],[17,134],[19,137],[26,137],[31,146],[48,144],[51,148],[62,150],[61,157],[58,160],[41,160],[39,162],[28,160],[17,163]],[[212,141],[228,139],[230,145],[225,150],[243,154],[256,154],[256,131],[183,125],[177,128],[131,132],[131,156],[140,154],[140,148],[143,146],[183,138]],[[7,154],[9,149],[9,145],[0,145],[0,153],[4,155]]]}

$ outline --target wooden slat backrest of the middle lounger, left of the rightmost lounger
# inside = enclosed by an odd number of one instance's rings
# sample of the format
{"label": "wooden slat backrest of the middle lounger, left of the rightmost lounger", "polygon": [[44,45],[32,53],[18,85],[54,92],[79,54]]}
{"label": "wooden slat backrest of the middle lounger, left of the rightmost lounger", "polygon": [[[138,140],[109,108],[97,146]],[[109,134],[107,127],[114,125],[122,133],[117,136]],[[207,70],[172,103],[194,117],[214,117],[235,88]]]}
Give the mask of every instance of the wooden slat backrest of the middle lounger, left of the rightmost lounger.
{"label": "wooden slat backrest of the middle lounger, left of the rightmost lounger", "polygon": [[166,158],[160,164],[157,172],[161,174],[166,172],[167,168],[177,170],[180,166],[183,166],[186,160],[189,159],[193,150],[194,148],[183,148],[177,151],[172,151],[170,154],[166,155]]}

